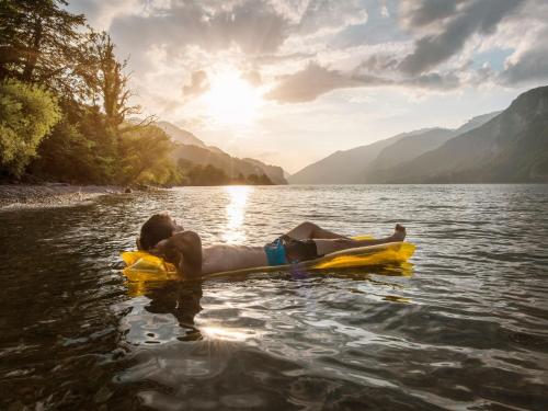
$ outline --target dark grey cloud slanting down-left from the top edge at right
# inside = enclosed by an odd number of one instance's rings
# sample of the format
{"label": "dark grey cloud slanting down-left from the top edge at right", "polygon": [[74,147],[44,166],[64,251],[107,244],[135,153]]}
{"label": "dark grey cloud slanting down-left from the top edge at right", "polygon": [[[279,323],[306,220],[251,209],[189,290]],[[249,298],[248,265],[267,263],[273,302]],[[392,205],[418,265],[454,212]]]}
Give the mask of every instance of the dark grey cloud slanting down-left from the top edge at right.
{"label": "dark grey cloud slanting down-left from the top edge at right", "polygon": [[420,37],[415,42],[414,52],[401,61],[400,69],[419,75],[436,67],[460,52],[473,34],[493,33],[501,20],[523,1],[463,0],[458,9],[446,0],[421,1],[420,7],[413,9],[406,21],[413,28],[439,23],[439,32]]}

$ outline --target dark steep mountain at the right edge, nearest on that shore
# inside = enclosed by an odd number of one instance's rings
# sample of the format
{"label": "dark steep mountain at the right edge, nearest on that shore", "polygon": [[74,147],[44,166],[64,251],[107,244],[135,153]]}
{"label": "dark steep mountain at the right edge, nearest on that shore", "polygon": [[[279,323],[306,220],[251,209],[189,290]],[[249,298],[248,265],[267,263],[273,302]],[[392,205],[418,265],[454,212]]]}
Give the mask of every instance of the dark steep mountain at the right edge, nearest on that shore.
{"label": "dark steep mountain at the right edge, nearest on that shore", "polygon": [[384,182],[548,182],[548,87],[521,94],[480,127],[398,165]]}

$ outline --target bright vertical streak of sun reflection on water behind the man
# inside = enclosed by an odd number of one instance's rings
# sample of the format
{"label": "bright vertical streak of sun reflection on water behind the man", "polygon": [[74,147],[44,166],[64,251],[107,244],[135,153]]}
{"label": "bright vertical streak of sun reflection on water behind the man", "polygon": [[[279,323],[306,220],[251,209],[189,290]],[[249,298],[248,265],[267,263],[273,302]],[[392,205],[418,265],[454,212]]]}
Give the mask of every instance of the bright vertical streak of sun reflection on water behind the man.
{"label": "bright vertical streak of sun reflection on water behind the man", "polygon": [[229,195],[227,205],[227,226],[222,241],[229,244],[242,243],[247,240],[243,231],[243,220],[251,187],[246,185],[228,185],[225,187]]}

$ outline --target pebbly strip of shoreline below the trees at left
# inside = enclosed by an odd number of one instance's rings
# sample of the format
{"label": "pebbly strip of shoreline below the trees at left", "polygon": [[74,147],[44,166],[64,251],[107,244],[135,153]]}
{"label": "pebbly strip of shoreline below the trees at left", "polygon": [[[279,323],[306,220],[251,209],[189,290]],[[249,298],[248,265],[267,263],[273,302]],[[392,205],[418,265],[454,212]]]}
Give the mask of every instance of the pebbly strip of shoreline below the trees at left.
{"label": "pebbly strip of shoreline below the trees at left", "polygon": [[0,185],[0,209],[69,206],[101,195],[124,192],[123,187],[109,185],[2,184]]}

